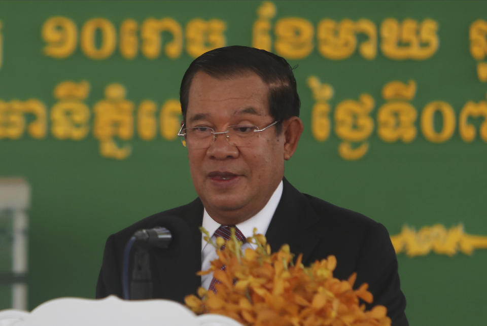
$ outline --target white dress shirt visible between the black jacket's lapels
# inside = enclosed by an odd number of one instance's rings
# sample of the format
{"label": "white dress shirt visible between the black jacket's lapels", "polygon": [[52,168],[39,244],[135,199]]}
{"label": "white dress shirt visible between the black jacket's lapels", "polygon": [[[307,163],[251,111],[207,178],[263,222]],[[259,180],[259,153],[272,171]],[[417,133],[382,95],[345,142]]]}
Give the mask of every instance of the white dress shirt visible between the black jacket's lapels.
{"label": "white dress shirt visible between the black jacket's lapels", "polygon": [[[279,205],[279,201],[281,200],[281,196],[283,194],[283,182],[277,186],[274,190],[274,193],[270,197],[269,201],[265,206],[252,218],[243,221],[236,225],[236,227],[240,230],[240,232],[246,238],[251,237],[253,235],[254,228],[257,228],[257,233],[265,234],[267,232],[267,228],[269,227],[270,220],[272,220],[272,216],[274,215],[275,209],[277,205]],[[212,234],[213,242],[216,241],[216,236],[214,235],[215,231],[220,227],[220,224],[215,222],[212,217],[206,212],[206,209],[203,211],[203,228],[208,231],[209,234]],[[205,271],[210,269],[210,262],[217,259],[218,255],[215,250],[215,247],[211,244],[208,244],[204,239],[204,235],[201,236],[201,270]],[[256,248],[256,245],[251,243],[244,243],[242,245],[242,251],[246,248]],[[201,276],[201,286],[205,289],[210,287],[210,283],[213,279],[213,273],[206,274]]]}

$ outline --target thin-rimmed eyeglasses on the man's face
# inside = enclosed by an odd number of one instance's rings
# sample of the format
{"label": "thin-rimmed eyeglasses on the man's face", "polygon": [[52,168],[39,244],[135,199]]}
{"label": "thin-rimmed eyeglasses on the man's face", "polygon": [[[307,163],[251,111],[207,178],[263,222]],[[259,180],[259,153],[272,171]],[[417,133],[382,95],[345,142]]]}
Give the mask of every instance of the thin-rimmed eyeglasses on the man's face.
{"label": "thin-rimmed eyeglasses on the man's face", "polygon": [[184,146],[187,145],[188,148],[192,149],[210,147],[217,135],[220,134],[225,134],[225,138],[232,146],[250,147],[253,144],[253,140],[259,136],[259,132],[272,127],[276,123],[277,120],[262,129],[254,125],[234,125],[228,126],[227,130],[222,132],[215,132],[215,129],[204,126],[185,128],[185,124],[183,124],[178,136],[184,137]]}

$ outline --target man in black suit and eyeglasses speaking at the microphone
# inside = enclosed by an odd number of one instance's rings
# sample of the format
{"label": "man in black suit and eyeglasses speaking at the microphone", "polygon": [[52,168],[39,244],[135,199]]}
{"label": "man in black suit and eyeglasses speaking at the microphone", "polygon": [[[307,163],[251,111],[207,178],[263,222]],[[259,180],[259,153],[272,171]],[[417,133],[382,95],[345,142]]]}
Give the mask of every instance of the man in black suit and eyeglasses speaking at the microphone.
{"label": "man in black suit and eyeglasses speaking at the microphone", "polygon": [[374,305],[385,305],[394,325],[407,325],[397,260],[384,226],[302,194],[284,178],[284,162],[303,130],[296,81],[286,60],[248,47],[212,50],[191,63],[180,96],[184,121],[179,135],[198,198],[110,236],[96,297],[122,296],[123,250],[135,231],[178,216],[186,234],[173,239],[176,249],[150,249],[151,271],[157,275],[154,298],[182,302],[198,286],[211,288],[212,275],[195,275],[216,257],[198,227],[214,234],[236,226],[245,237],[255,227],[274,250],[288,243],[293,252],[303,253],[305,265],[335,255],[335,277],[357,272],[356,285],[369,284]]}

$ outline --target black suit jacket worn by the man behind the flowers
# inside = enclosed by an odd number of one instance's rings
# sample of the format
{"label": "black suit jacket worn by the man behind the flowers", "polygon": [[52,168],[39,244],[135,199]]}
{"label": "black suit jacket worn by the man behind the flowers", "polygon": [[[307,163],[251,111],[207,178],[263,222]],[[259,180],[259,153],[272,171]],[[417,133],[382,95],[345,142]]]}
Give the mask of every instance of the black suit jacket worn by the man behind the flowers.
{"label": "black suit jacket worn by the man behind the flowers", "polygon": [[[201,233],[203,218],[199,199],[160,212],[111,235],[105,245],[103,262],[96,286],[96,297],[123,297],[122,262],[127,240],[140,229],[158,225],[165,215],[176,215],[188,225],[185,239],[174,239],[177,249],[151,249],[153,297],[183,302],[201,285],[196,272],[201,269]],[[288,243],[291,251],[303,253],[309,265],[335,255],[334,277],[346,279],[357,272],[355,285],[367,282],[374,296],[373,304],[387,307],[393,325],[407,325],[406,300],[401,292],[396,254],[384,226],[364,215],[334,206],[319,198],[302,194],[286,179],[281,201],[266,233],[273,251]],[[183,253],[184,252],[184,253]]]}

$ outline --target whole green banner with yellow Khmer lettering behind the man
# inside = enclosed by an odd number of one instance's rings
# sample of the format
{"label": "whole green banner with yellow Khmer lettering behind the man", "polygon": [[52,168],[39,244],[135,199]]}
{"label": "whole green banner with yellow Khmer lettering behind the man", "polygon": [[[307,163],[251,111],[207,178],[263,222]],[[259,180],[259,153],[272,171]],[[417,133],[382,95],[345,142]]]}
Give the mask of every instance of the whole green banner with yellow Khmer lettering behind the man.
{"label": "whole green banner with yellow Khmer lettering behind the man", "polygon": [[32,189],[29,307],[94,297],[109,234],[196,197],[180,81],[238,44],[296,66],[286,177],[387,227],[410,324],[480,324],[486,35],[481,1],[0,2],[0,176]]}

